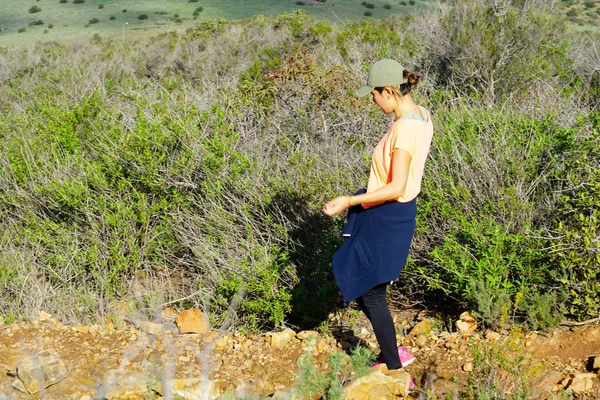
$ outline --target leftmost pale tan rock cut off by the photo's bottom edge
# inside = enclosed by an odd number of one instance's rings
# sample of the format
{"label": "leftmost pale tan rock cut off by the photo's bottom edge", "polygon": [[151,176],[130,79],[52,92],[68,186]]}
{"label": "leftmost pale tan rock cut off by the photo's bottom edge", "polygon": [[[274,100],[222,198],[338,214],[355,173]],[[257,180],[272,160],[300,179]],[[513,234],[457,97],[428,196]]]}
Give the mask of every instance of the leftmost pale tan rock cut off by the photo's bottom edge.
{"label": "leftmost pale tan rock cut off by the photo's bottom edge", "polygon": [[126,369],[111,369],[104,374],[99,393],[94,398],[117,399],[143,396],[148,393],[146,375]]}

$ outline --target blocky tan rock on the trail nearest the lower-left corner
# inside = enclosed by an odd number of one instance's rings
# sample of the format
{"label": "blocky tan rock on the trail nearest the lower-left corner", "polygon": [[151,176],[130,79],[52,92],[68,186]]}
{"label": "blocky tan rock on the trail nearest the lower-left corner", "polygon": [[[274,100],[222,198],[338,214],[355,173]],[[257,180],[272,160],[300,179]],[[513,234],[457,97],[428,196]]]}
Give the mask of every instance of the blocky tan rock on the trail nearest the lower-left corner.
{"label": "blocky tan rock on the trail nearest the lower-left corner", "polygon": [[33,357],[24,357],[17,362],[17,377],[30,394],[52,386],[69,373],[65,363],[53,349],[42,351]]}

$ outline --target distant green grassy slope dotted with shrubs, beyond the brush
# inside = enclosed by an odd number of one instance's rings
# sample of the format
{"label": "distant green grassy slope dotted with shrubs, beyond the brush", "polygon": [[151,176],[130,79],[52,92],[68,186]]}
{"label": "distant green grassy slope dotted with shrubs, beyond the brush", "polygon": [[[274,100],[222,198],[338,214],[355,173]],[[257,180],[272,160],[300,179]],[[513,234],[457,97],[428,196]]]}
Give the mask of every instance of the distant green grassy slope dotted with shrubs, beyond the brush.
{"label": "distant green grassy slope dotted with shrubs, beyond the brush", "polygon": [[[167,30],[185,30],[198,21],[208,19],[243,19],[257,14],[278,15],[284,12],[304,10],[307,14],[337,23],[364,20],[367,9],[359,0],[327,0],[325,3],[306,0],[305,5],[296,5],[295,0],[87,0],[84,4],[60,3],[59,0],[40,0],[35,5],[41,12],[30,14],[30,3],[13,0],[0,0],[0,45],[26,44],[32,41],[78,41],[88,40],[95,34],[101,37],[118,39],[148,36]],[[423,11],[435,7],[435,0],[417,0],[414,6],[407,3],[402,6],[392,0],[371,0],[375,5],[369,9],[371,18],[386,18],[395,13]],[[100,4],[104,5],[99,9]],[[194,10],[198,6],[203,10],[197,20]],[[391,8],[385,9],[384,5]],[[127,12],[123,13],[122,10]],[[139,20],[140,14],[148,19]],[[181,22],[175,22],[174,14],[179,14]],[[115,19],[110,20],[111,16]],[[101,20],[98,24],[88,25],[92,18]],[[43,27],[32,27],[23,33],[20,28],[27,27],[34,19],[43,19],[46,24],[54,24],[54,29],[44,34]]]}

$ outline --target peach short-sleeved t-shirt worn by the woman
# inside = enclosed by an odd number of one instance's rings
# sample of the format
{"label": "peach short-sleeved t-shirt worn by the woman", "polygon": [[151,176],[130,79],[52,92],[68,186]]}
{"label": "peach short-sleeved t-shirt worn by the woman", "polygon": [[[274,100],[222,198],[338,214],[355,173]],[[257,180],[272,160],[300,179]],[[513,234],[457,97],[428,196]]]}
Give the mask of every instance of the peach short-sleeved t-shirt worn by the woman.
{"label": "peach short-sleeved t-shirt worn by the woman", "polygon": [[[401,203],[409,202],[421,191],[425,160],[433,138],[433,123],[429,111],[423,107],[419,108],[425,116],[425,121],[414,117],[396,120],[375,146],[367,193],[374,192],[391,181],[392,152],[396,149],[403,149],[411,156],[404,195],[397,200]],[[382,203],[363,204],[363,207],[368,208],[377,204]]]}

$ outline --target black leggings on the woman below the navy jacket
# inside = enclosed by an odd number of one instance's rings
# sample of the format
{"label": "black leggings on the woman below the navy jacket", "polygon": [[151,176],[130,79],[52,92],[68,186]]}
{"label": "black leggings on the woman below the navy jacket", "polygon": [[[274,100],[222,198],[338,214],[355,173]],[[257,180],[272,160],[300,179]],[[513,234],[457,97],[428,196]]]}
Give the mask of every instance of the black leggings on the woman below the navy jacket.
{"label": "black leggings on the woman below the navy jacket", "polygon": [[356,302],[373,325],[381,355],[383,355],[388,369],[400,369],[402,365],[396,346],[396,327],[387,305],[387,286],[388,283],[375,286],[356,299]]}

